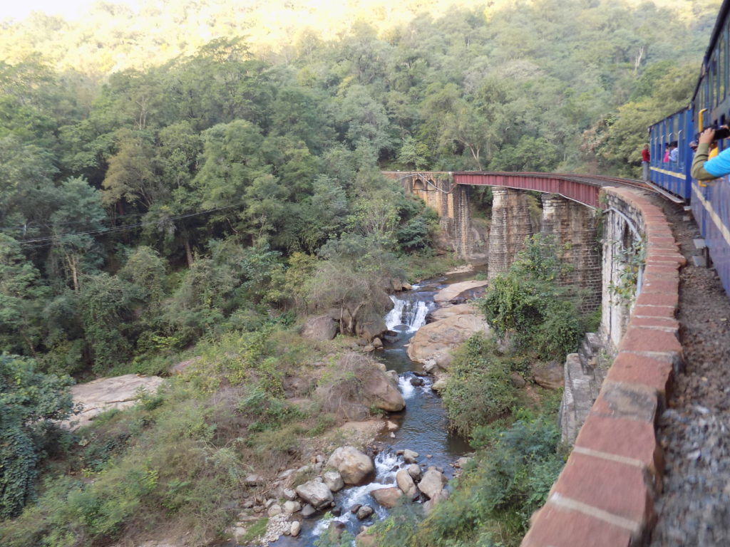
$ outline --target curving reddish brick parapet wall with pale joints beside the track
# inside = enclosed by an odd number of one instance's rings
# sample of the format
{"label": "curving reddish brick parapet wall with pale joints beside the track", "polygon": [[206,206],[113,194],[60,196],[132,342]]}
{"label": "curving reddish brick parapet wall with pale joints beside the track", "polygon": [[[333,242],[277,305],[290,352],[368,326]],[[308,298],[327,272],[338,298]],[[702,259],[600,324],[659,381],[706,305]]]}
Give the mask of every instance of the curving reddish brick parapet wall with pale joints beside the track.
{"label": "curving reddish brick parapet wall with pale joints beside the track", "polygon": [[635,547],[647,543],[661,489],[656,417],[683,360],[677,249],[664,214],[639,190],[604,188],[602,200],[645,236],[641,292],[591,413],[522,547]]}

